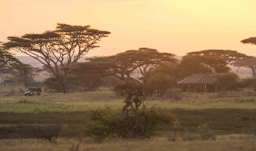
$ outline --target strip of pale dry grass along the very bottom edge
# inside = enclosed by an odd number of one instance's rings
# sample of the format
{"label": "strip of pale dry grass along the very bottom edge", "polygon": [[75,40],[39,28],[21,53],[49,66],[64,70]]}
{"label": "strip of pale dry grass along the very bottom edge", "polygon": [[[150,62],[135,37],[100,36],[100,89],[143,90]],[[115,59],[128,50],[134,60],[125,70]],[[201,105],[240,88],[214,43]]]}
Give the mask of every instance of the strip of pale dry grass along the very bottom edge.
{"label": "strip of pale dry grass along the very bottom edge", "polygon": [[[209,151],[252,151],[255,150],[255,139],[246,140],[239,139],[238,137],[231,137],[232,139],[222,139],[220,141],[191,141],[191,142],[170,142],[170,141],[116,141],[101,144],[95,143],[81,143],[78,150],[101,150],[101,151],[130,151],[130,150],[209,150]],[[76,150],[77,143],[65,142],[63,144],[42,144],[36,143],[33,145],[19,145],[10,146],[2,145],[0,150],[10,151],[32,151],[32,150]]]}

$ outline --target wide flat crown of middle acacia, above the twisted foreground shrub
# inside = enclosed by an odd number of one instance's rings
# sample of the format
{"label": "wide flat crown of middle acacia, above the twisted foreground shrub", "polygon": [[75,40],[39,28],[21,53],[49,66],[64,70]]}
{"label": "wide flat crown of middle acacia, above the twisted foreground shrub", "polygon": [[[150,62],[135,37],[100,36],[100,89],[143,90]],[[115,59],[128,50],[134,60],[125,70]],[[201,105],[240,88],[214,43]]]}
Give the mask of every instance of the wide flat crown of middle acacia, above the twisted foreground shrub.
{"label": "wide flat crown of middle acacia, above the twisted foreground shrub", "polygon": [[92,57],[89,62],[79,63],[72,70],[83,70],[83,72],[97,71],[107,76],[115,76],[130,83],[131,75],[140,66],[159,65],[164,62],[175,62],[174,54],[160,53],[156,49],[139,48],[138,50],[127,50],[120,54],[109,57]]}

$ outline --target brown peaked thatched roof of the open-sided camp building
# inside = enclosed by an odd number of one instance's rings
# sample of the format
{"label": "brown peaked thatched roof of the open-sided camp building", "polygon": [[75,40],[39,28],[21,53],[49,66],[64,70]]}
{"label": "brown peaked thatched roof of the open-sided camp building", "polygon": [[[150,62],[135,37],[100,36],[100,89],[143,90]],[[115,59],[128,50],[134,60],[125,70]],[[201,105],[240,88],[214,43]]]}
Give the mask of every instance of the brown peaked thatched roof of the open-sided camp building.
{"label": "brown peaked thatched roof of the open-sided camp building", "polygon": [[186,79],[179,81],[178,84],[211,84],[217,79],[209,76],[208,74],[193,74]]}

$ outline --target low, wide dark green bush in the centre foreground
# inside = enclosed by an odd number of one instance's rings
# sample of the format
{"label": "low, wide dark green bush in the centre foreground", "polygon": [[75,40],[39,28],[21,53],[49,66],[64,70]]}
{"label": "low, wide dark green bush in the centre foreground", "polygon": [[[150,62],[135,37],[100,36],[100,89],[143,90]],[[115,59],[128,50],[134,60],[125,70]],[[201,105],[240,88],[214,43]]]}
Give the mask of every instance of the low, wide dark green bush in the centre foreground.
{"label": "low, wide dark green bush in the centre foreground", "polygon": [[[140,112],[138,117],[133,116],[133,112],[131,112],[131,115],[122,119],[120,111],[112,110],[112,108],[91,110],[94,123],[87,133],[97,139],[109,136],[145,139],[153,136],[155,130],[160,130],[161,125],[171,125],[171,121],[173,121],[171,114],[156,105],[150,110]],[[136,119],[140,121],[140,126],[134,127],[138,122]]]}

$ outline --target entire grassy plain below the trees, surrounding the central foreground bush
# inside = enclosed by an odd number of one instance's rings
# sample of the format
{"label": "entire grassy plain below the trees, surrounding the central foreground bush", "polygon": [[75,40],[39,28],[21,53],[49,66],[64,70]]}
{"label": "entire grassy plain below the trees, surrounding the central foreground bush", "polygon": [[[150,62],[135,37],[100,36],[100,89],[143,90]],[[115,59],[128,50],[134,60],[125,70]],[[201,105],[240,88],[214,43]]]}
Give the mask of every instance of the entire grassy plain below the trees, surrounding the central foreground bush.
{"label": "entire grassy plain below the trees, surrounding the central foreground bush", "polygon": [[101,88],[27,97],[18,89],[11,95],[4,90],[10,88],[1,88],[0,150],[256,150],[251,90],[224,96],[183,93],[180,100],[147,97],[147,108],[157,105],[178,122],[161,125],[147,140],[111,136],[100,141],[87,130],[98,125],[93,111],[120,112],[123,98],[113,92]]}

